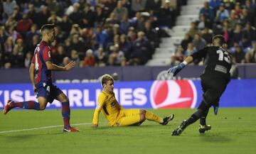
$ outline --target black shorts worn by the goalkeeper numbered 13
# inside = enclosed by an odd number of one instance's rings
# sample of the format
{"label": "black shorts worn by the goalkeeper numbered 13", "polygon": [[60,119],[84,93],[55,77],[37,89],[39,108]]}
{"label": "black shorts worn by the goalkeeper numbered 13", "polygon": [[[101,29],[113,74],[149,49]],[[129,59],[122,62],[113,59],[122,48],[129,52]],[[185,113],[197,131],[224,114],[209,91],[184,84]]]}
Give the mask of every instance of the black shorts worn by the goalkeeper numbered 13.
{"label": "black shorts worn by the goalkeeper numbered 13", "polygon": [[227,79],[213,76],[201,76],[201,85],[203,89],[203,101],[208,106],[218,104],[221,95],[227,87]]}

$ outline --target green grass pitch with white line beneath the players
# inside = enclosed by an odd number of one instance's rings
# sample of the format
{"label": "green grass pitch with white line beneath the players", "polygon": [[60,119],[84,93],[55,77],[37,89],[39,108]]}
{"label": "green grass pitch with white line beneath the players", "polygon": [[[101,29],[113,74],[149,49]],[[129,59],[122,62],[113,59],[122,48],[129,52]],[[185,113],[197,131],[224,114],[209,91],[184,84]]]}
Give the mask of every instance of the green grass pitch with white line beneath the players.
{"label": "green grass pitch with white line beneath the players", "polygon": [[159,116],[175,114],[167,126],[145,121],[142,126],[112,128],[100,115],[100,127],[90,128],[92,110],[72,110],[71,123],[82,132],[62,133],[62,127],[33,131],[1,133],[3,131],[62,125],[60,110],[13,110],[0,115],[0,153],[256,153],[256,108],[213,109],[208,114],[212,130],[198,133],[198,121],[188,126],[181,136],[171,131],[191,109],[149,110]]}

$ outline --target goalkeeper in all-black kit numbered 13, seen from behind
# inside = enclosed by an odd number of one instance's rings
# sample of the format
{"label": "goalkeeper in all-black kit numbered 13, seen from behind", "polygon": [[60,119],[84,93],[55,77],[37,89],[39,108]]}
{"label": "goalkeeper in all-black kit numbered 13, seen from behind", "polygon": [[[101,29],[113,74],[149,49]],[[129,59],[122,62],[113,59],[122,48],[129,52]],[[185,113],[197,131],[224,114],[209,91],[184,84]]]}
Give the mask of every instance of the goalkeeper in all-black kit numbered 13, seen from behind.
{"label": "goalkeeper in all-black kit numbered 13, seen from behind", "polygon": [[213,106],[214,113],[217,114],[218,101],[225,91],[228,82],[230,82],[230,56],[230,53],[225,49],[223,35],[215,35],[211,46],[189,55],[180,65],[171,67],[168,70],[169,74],[175,76],[183,67],[193,62],[193,60],[201,60],[204,58],[205,69],[203,75],[201,75],[203,101],[198,106],[197,111],[193,113],[189,119],[184,120],[181,125],[172,132],[172,136],[179,136],[187,126],[196,122],[198,119],[200,119],[200,133],[210,130],[211,126],[206,125],[206,116],[210,106]]}

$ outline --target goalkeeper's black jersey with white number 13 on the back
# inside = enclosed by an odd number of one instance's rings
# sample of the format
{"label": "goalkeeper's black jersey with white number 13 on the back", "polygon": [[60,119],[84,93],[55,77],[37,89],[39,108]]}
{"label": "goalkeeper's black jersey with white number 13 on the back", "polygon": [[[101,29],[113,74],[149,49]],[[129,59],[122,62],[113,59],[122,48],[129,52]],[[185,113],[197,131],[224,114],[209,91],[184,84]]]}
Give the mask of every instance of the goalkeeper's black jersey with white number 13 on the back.
{"label": "goalkeeper's black jersey with white number 13 on the back", "polygon": [[204,58],[204,76],[230,79],[231,55],[225,48],[210,46],[193,53],[191,56],[193,60]]}

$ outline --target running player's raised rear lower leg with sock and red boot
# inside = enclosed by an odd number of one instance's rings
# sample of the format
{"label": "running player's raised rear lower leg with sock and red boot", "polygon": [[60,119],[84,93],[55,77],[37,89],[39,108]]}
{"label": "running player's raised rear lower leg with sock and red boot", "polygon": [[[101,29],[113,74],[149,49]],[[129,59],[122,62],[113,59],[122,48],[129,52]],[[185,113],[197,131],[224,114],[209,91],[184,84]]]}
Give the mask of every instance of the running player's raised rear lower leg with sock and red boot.
{"label": "running player's raised rear lower leg with sock and red boot", "polygon": [[7,101],[6,106],[4,106],[4,114],[7,114],[11,109],[14,109],[15,107],[19,107],[23,109],[41,110],[40,104],[36,101],[14,102],[12,100],[9,100]]}

